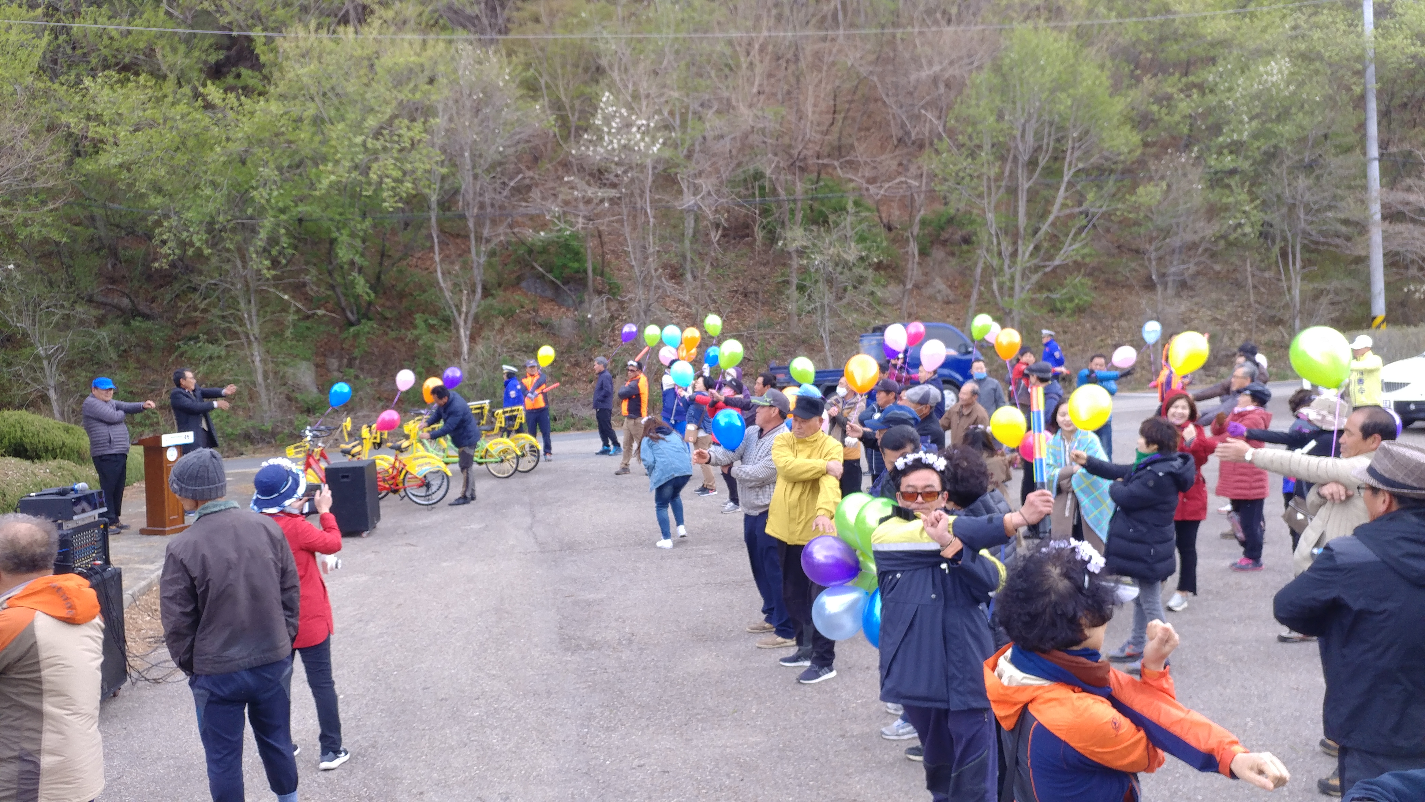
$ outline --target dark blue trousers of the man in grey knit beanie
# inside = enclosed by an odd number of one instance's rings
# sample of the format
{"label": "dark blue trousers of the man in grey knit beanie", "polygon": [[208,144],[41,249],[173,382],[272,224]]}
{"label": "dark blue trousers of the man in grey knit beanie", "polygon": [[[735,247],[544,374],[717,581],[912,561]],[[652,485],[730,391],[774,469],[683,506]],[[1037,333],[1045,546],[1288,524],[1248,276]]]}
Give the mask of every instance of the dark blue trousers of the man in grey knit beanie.
{"label": "dark blue trousers of the man in grey knit beanie", "polygon": [[292,655],[229,674],[188,678],[198,711],[198,735],[208,756],[208,792],[214,802],[244,802],[242,714],[252,722],[268,788],[296,793],[292,756]]}

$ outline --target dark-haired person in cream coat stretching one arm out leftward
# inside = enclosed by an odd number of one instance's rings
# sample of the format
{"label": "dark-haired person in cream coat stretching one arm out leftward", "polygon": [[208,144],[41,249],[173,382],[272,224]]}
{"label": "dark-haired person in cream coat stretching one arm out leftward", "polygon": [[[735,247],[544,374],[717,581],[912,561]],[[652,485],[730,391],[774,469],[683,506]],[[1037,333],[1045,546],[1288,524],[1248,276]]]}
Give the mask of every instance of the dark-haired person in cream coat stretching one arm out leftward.
{"label": "dark-haired person in cream coat stretching one arm out leftward", "polygon": [[[1340,457],[1253,449],[1244,440],[1224,440],[1217,446],[1216,454],[1223,462],[1250,462],[1260,469],[1312,483],[1311,493],[1307,494],[1311,523],[1301,533],[1292,556],[1292,567],[1300,574],[1311,567],[1314,550],[1351,534],[1368,520],[1361,494],[1342,489],[1355,487],[1358,483],[1351,472],[1371,464],[1381,443],[1394,440],[1395,436],[1396,425],[1391,413],[1378,406],[1362,406],[1345,420]],[[1340,489],[1331,487],[1332,483]]]}

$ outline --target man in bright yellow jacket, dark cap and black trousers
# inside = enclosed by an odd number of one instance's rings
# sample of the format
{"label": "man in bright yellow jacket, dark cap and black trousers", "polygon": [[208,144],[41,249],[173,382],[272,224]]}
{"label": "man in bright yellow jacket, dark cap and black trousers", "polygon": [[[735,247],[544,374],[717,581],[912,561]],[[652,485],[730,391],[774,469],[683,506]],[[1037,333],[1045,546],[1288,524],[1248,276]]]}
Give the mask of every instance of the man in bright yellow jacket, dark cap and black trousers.
{"label": "man in bright yellow jacket, dark cap and black trousers", "polygon": [[819,396],[797,396],[792,430],[772,440],[777,490],[767,510],[767,534],[777,538],[782,566],[782,600],[797,627],[797,652],[781,658],[787,667],[808,667],[797,681],[804,685],[836,675],[836,642],[817,631],[811,605],[824,588],[801,567],[801,553],[812,537],[835,534],[836,504],[841,503],[842,444],[821,430],[826,402]]}

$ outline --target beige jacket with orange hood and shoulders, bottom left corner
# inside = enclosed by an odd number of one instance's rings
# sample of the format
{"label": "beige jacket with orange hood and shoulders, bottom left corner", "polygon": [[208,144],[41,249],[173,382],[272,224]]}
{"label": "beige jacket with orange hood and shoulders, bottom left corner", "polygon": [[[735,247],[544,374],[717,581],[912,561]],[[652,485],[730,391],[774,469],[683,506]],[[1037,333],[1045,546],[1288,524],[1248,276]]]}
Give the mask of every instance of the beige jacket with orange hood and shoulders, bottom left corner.
{"label": "beige jacket with orange hood and shoulders, bottom left corner", "polygon": [[0,799],[88,802],[104,789],[103,662],[98,595],[84,577],[0,595]]}

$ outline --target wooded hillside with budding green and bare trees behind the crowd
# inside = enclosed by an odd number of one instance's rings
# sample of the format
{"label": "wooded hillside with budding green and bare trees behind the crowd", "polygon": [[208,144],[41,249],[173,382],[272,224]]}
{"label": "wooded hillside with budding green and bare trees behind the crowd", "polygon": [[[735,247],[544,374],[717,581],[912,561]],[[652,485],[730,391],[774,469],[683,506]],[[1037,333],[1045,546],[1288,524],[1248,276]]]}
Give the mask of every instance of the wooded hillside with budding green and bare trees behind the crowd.
{"label": "wooded hillside with budding green and bare trees behind the crowd", "polygon": [[[1072,360],[1157,318],[1285,368],[1368,321],[1365,40],[1358,3],[0,3],[0,406],[185,365],[271,442],[332,380],[486,397],[547,342],[567,422],[623,323],[708,312],[748,365],[990,312]],[[1415,323],[1425,3],[1375,13]]]}

